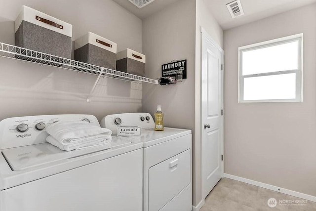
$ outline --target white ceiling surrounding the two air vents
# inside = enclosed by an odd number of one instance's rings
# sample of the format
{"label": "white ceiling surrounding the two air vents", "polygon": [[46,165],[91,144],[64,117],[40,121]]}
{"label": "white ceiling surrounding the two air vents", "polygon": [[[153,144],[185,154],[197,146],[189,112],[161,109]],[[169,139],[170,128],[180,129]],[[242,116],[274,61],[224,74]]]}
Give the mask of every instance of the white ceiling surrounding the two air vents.
{"label": "white ceiling surrounding the two air vents", "polygon": [[[114,0],[140,19],[158,12],[177,0],[154,0],[139,9],[129,0]],[[232,18],[226,7],[234,0],[203,0],[223,30],[257,21],[278,13],[316,2],[316,0],[240,0],[244,15]]]}

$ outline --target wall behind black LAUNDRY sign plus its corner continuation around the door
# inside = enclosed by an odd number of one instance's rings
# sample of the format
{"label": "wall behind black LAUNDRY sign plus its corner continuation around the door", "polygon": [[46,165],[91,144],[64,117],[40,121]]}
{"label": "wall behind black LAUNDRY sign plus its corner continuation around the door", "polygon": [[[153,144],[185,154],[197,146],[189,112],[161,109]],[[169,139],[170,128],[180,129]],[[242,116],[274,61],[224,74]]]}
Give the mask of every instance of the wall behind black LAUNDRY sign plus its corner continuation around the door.
{"label": "wall behind black LAUNDRY sign plus its corner continuation around the door", "polygon": [[[196,10],[194,9],[196,8]],[[187,59],[187,79],[175,85],[143,84],[143,112],[156,112],[162,106],[164,124],[192,129],[193,132],[193,205],[201,199],[200,138],[200,27],[204,27],[223,46],[223,31],[203,0],[178,0],[143,20],[143,52],[146,76],[161,77],[161,65],[173,59]]]}

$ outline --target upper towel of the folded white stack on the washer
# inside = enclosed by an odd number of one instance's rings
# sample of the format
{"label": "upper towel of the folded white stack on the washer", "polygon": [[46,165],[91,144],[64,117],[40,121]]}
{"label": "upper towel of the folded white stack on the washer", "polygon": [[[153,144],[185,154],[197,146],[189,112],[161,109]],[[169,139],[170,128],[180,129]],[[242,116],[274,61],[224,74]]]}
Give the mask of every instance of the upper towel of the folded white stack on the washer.
{"label": "upper towel of the folded white stack on the washer", "polygon": [[93,126],[87,122],[60,122],[51,124],[46,128],[48,134],[56,140],[63,142],[65,139],[76,142],[77,138],[91,135],[111,135],[112,131],[107,128]]}

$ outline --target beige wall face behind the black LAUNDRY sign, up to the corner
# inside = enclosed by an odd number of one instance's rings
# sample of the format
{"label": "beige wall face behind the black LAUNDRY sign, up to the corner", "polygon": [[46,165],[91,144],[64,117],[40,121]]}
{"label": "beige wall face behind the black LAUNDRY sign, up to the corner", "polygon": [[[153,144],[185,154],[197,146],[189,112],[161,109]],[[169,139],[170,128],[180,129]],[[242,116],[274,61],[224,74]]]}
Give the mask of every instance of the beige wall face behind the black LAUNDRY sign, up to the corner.
{"label": "beige wall face behind the black LAUNDRY sign, up to the corner", "polygon": [[[143,84],[142,110],[153,115],[157,105],[161,105],[164,125],[192,129],[193,137],[195,134],[195,7],[195,0],[178,0],[144,19],[142,44],[146,55],[146,76],[149,78],[161,77],[162,64],[174,59],[187,59],[187,79],[183,82],[163,86]],[[194,169],[194,159],[192,166]]]}

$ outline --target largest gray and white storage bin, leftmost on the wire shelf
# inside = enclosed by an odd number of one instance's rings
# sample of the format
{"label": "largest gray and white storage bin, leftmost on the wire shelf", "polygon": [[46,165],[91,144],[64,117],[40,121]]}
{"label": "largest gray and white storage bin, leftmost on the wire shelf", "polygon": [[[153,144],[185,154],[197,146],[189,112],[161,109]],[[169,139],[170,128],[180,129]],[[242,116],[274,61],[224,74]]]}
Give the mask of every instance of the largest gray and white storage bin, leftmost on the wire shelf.
{"label": "largest gray and white storage bin, leftmost on the wire shelf", "polygon": [[15,20],[15,45],[71,59],[73,26],[27,6]]}

